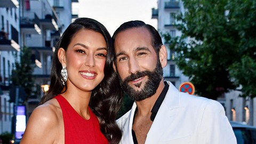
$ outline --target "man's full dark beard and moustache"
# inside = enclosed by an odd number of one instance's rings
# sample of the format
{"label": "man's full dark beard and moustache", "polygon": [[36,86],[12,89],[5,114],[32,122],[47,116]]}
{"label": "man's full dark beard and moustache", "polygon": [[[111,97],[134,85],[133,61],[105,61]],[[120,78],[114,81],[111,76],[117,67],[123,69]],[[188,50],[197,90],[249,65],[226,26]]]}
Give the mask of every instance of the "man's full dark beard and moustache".
{"label": "man's full dark beard and moustache", "polygon": [[[140,77],[147,76],[148,81],[145,83],[144,87],[141,90],[134,90],[129,82],[134,79],[138,79]],[[161,66],[160,60],[158,59],[156,68],[153,71],[145,70],[138,71],[135,74],[131,74],[126,77],[124,81],[122,81],[121,77],[119,77],[119,82],[121,84],[122,89],[129,95],[132,100],[141,101],[145,100],[156,93],[158,86],[163,78],[163,68]],[[140,87],[141,83],[135,84],[136,87]]]}

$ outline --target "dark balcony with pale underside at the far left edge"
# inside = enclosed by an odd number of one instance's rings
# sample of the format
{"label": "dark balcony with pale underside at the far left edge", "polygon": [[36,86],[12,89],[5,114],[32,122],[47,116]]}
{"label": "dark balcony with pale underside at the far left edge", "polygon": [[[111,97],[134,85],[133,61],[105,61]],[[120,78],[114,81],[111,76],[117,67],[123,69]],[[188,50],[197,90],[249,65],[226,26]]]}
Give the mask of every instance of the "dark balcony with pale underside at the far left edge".
{"label": "dark balcony with pale underside at the far left edge", "polygon": [[20,51],[19,33],[11,26],[11,39],[0,39],[0,51]]}

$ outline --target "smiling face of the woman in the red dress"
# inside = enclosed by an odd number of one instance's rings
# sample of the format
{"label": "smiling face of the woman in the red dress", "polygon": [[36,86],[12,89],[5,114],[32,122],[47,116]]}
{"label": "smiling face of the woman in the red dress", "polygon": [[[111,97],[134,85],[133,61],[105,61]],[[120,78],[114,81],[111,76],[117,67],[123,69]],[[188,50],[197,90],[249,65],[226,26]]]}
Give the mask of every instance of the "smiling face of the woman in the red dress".
{"label": "smiling face of the woman in the red dress", "polygon": [[104,77],[106,57],[104,37],[93,30],[79,30],[71,39],[61,62],[67,67],[68,89],[92,91]]}

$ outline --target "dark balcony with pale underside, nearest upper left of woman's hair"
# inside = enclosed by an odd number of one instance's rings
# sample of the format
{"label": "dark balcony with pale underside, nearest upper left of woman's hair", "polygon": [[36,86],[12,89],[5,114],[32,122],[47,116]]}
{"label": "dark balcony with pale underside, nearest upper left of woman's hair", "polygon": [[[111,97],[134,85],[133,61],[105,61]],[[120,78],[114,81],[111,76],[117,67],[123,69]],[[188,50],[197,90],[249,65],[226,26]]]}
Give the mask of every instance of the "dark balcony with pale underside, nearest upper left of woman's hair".
{"label": "dark balcony with pale underside, nearest upper left of woman's hair", "polygon": [[45,18],[40,20],[40,23],[45,29],[59,30],[55,14],[46,14]]}

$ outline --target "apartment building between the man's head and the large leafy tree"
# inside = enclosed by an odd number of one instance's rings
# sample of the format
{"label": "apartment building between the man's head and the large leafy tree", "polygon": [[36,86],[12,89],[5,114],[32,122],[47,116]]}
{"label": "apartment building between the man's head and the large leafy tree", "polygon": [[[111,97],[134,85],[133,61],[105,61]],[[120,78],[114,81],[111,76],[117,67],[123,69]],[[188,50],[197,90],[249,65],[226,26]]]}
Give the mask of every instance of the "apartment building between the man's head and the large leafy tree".
{"label": "apartment building between the man's head and the large leafy tree", "polygon": [[[181,33],[174,27],[173,14],[182,12],[183,5],[179,1],[175,0],[158,0],[157,9],[152,9],[152,19],[157,19],[158,32],[161,34],[169,33],[172,37],[180,36]],[[164,68],[164,78],[166,81],[170,81],[173,85],[179,88],[180,84],[188,81],[188,77],[182,74],[178,66],[173,61],[175,58],[174,51],[168,49],[169,44],[165,43],[165,39],[162,39],[164,45],[167,48],[167,66]]]}

